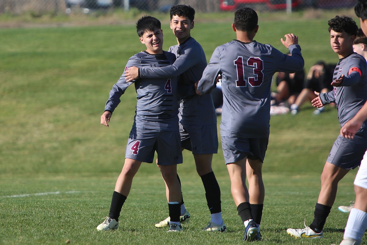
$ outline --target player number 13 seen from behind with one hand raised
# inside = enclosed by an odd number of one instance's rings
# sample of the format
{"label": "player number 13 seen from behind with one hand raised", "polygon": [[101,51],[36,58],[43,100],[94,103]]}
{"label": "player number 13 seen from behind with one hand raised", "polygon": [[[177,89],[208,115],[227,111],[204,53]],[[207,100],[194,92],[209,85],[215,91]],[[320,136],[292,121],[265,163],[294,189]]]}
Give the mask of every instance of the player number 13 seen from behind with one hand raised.
{"label": "player number 13 seen from behind with one hand raised", "polygon": [[290,56],[256,42],[258,16],[251,8],[235,12],[232,28],[236,40],[215,48],[197,89],[199,93],[210,93],[221,74],[223,154],[232,197],[245,226],[243,240],[255,241],[261,239],[259,224],[265,196],[261,169],[269,139],[272,77],[277,71],[301,71],[304,60],[294,34],[281,39]]}

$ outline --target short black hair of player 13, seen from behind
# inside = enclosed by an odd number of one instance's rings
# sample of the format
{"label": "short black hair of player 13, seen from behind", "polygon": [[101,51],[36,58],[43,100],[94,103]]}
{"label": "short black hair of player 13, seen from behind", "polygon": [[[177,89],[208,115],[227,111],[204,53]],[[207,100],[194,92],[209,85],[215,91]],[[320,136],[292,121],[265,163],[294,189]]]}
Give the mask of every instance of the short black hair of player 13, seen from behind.
{"label": "short black hair of player 13, seen from behind", "polygon": [[258,23],[258,16],[252,8],[240,8],[235,12],[235,27],[237,30],[251,32]]}

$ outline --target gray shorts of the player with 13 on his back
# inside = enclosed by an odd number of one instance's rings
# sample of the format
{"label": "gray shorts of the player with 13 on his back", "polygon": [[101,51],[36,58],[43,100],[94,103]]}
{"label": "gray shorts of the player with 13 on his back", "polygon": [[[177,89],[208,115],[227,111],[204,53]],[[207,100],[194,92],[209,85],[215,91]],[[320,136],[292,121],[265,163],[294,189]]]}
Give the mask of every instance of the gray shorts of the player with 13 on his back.
{"label": "gray shorts of the player with 13 on his back", "polygon": [[240,161],[244,158],[264,162],[268,148],[269,137],[266,138],[236,138],[222,136],[222,150],[226,164]]}

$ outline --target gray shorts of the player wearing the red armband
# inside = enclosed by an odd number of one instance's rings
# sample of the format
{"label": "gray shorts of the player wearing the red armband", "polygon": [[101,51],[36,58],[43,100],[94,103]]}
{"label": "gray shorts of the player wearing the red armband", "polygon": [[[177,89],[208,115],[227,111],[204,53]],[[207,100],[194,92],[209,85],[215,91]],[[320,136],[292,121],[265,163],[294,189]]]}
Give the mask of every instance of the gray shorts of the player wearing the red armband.
{"label": "gray shorts of the player wearing the red armband", "polygon": [[360,165],[367,149],[367,129],[360,129],[353,139],[340,134],[331,148],[327,162],[343,169],[355,169]]}

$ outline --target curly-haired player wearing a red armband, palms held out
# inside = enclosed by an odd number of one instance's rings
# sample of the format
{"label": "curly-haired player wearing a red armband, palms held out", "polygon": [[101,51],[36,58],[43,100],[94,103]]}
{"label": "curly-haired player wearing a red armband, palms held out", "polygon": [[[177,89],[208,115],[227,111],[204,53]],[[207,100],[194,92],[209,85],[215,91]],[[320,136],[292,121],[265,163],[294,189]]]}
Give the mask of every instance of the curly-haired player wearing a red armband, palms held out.
{"label": "curly-haired player wearing a red armband, palms held out", "polygon": [[[312,105],[321,108],[335,102],[342,127],[367,100],[367,64],[361,55],[353,53],[353,41],[358,30],[356,22],[350,17],[337,15],[328,25],[331,48],[339,57],[331,83],[334,89],[328,93],[315,92],[317,97],[312,100]],[[321,190],[312,223],[302,229],[289,228],[288,234],[296,238],[323,237],[323,228],[334,204],[338,183],[350,169],[360,165],[366,148],[367,130],[364,126],[354,140],[347,140],[341,135],[337,137],[321,173]]]}

